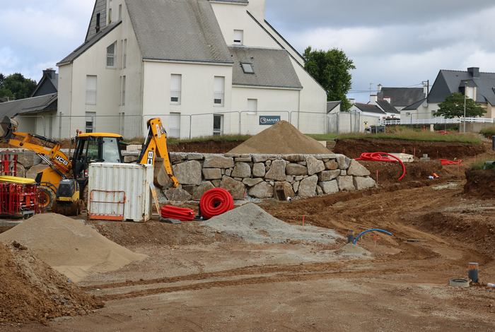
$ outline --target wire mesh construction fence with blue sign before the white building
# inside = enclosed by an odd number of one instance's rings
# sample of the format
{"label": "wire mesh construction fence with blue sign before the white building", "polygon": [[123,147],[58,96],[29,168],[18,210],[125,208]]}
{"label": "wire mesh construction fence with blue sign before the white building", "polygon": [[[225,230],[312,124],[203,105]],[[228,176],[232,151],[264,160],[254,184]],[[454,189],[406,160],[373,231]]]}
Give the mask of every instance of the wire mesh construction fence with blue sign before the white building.
{"label": "wire mesh construction fence with blue sign before the white building", "polygon": [[146,136],[146,121],[160,118],[170,138],[197,138],[216,135],[256,135],[277,121],[291,123],[303,134],[349,134],[366,126],[382,124],[380,117],[360,112],[232,111],[200,114],[141,115],[20,115],[18,131],[62,141],[82,133],[120,134],[126,139]]}

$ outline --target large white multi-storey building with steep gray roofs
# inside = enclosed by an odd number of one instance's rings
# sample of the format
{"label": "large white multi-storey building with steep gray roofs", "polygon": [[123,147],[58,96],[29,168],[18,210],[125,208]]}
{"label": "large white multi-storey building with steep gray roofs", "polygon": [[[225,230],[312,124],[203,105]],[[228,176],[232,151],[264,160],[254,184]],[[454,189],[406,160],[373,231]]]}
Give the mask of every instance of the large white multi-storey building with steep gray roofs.
{"label": "large white multi-storey building with steep gray roofs", "polygon": [[[136,137],[141,117],[181,138],[257,134],[270,114],[326,117],[325,89],[264,19],[264,0],[95,0],[85,40],[57,66],[59,115],[71,119],[59,136],[89,123]],[[325,131],[314,118],[298,126]]]}

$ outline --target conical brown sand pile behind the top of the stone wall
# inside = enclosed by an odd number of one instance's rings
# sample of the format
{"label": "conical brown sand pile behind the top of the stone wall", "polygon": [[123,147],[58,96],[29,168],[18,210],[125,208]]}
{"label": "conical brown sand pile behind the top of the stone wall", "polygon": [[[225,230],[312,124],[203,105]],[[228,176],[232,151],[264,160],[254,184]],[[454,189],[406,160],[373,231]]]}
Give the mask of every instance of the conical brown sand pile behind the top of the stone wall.
{"label": "conical brown sand pile behind the top of the stone wall", "polygon": [[286,155],[302,153],[306,155],[318,155],[330,153],[330,150],[322,146],[314,138],[305,136],[295,126],[287,121],[279,121],[260,134],[252,136],[248,141],[240,144],[228,153],[269,153]]}

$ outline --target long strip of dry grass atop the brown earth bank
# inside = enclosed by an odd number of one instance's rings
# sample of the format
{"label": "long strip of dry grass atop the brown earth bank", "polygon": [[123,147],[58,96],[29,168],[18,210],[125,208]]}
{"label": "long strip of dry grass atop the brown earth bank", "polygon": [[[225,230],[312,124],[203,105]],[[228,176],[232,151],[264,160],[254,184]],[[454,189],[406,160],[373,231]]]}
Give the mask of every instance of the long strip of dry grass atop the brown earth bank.
{"label": "long strip of dry grass atop the brown earth bank", "polygon": [[436,134],[431,131],[414,131],[411,129],[400,129],[396,133],[380,134],[341,134],[339,138],[380,138],[380,139],[398,139],[404,141],[432,141],[432,142],[460,142],[460,143],[482,143],[482,140],[472,136],[472,134]]}

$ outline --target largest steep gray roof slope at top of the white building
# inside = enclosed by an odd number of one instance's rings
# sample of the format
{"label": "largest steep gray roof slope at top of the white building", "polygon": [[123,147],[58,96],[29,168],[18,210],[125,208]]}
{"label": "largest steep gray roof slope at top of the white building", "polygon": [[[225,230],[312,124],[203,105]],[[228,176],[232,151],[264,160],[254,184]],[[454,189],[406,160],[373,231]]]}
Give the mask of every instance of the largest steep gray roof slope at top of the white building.
{"label": "largest steep gray roof slope at top of the white building", "polygon": [[143,59],[229,62],[207,0],[125,0]]}

